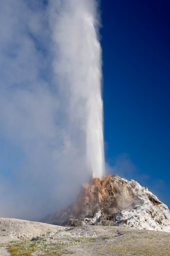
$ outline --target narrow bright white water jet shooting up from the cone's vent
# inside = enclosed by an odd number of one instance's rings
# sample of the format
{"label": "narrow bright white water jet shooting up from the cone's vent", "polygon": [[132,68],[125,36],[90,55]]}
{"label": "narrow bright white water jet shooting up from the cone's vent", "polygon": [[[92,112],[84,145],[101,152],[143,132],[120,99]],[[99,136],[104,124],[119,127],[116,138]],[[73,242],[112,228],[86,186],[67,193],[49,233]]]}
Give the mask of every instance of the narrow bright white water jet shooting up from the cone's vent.
{"label": "narrow bright white water jet shooting up from the cone's vent", "polygon": [[94,177],[104,174],[103,101],[101,98],[101,48],[94,30],[93,17],[85,18],[87,70],[87,161]]}

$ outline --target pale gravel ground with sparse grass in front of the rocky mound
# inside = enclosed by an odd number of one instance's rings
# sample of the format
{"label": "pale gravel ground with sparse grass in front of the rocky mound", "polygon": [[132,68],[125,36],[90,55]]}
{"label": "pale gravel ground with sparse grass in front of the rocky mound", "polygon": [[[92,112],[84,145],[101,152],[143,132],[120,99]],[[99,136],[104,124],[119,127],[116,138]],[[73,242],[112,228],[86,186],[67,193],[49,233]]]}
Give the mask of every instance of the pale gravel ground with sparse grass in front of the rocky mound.
{"label": "pale gravel ground with sparse grass in front of the rocky mound", "polygon": [[[26,254],[28,251],[30,254]],[[170,233],[168,232],[116,226],[63,227],[0,218],[0,256],[170,256],[169,252]]]}

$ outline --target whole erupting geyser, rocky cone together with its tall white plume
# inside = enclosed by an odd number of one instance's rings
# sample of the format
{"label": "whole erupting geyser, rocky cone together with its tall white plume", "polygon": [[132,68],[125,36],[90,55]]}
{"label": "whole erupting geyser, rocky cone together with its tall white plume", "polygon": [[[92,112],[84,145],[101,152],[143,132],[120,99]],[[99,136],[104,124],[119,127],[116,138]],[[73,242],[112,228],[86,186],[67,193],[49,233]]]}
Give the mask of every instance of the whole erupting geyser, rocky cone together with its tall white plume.
{"label": "whole erupting geyser, rocky cone together with its tall white plume", "polygon": [[[67,107],[62,111],[66,109],[70,144],[82,155],[84,170],[87,168],[93,175],[89,182],[82,184],[75,202],[42,221],[66,226],[128,226],[170,232],[170,212],[156,195],[134,180],[128,181],[116,174],[103,175],[103,102],[101,47],[96,30],[99,20],[97,1],[59,2],[62,6],[61,9],[57,6],[59,14],[54,12],[56,22],[53,26],[57,48],[57,62],[54,63],[57,88],[61,97],[65,97],[63,105]],[[70,144],[66,145],[69,147]]]}

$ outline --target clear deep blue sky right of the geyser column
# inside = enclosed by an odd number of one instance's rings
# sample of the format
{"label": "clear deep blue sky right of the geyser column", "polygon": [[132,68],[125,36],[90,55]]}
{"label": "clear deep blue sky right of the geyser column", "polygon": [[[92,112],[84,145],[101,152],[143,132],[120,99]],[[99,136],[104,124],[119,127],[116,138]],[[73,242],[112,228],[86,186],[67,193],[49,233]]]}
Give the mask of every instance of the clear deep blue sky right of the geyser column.
{"label": "clear deep blue sky right of the geyser column", "polygon": [[170,207],[169,1],[101,1],[105,158]]}

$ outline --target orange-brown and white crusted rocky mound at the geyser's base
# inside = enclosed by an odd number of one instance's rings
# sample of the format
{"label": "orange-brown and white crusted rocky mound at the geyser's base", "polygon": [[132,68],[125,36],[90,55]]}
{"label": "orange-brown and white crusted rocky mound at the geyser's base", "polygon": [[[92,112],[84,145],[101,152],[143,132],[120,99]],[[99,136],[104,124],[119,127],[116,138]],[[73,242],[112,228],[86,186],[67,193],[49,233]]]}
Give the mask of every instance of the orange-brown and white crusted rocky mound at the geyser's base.
{"label": "orange-brown and white crusted rocky mound at the geyser's base", "polygon": [[77,200],[44,219],[55,225],[129,226],[170,232],[168,207],[134,180],[118,175],[90,177]]}

